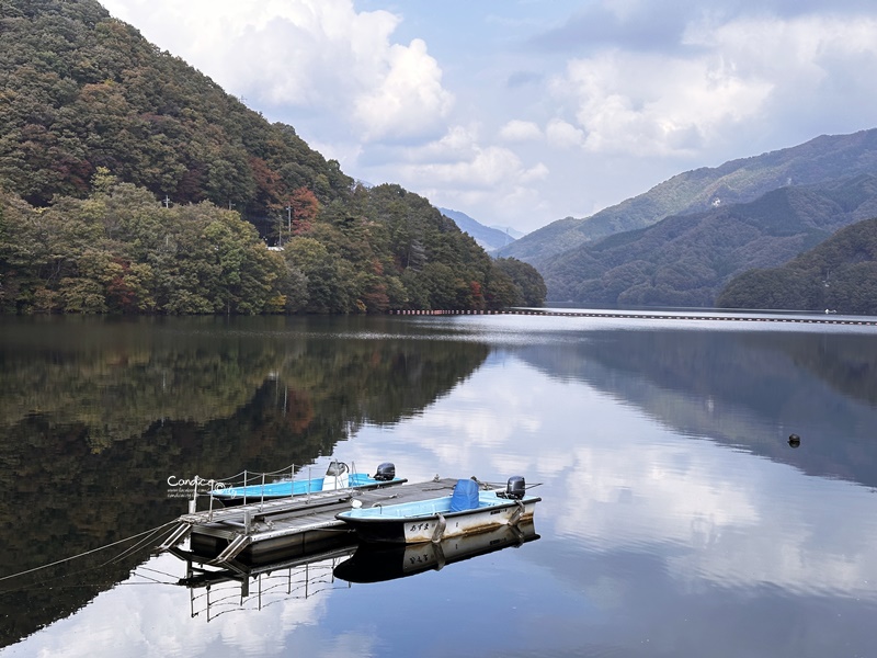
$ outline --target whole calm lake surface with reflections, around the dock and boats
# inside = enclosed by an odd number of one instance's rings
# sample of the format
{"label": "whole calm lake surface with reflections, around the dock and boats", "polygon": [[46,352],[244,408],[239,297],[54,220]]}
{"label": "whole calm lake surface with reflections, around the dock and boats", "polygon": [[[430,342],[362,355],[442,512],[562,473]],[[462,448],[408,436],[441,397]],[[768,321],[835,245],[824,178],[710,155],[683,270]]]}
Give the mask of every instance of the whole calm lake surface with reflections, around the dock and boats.
{"label": "whole calm lake surface with reflections, around the dock and boats", "polygon": [[[3,657],[877,650],[875,327],[0,318],[0,409]],[[441,569],[350,545],[186,587],[150,554],[169,478],[332,456],[543,501]]]}

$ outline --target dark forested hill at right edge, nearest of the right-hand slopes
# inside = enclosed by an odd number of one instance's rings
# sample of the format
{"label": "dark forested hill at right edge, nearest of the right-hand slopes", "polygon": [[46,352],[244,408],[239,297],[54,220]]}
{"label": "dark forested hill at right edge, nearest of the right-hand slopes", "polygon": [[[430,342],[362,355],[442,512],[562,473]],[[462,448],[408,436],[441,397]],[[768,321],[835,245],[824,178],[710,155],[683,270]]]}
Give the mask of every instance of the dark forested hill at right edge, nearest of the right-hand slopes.
{"label": "dark forested hill at right edge, nearest of the right-hand slopes", "polygon": [[736,276],[716,304],[877,315],[877,218],[847,226],[778,268]]}

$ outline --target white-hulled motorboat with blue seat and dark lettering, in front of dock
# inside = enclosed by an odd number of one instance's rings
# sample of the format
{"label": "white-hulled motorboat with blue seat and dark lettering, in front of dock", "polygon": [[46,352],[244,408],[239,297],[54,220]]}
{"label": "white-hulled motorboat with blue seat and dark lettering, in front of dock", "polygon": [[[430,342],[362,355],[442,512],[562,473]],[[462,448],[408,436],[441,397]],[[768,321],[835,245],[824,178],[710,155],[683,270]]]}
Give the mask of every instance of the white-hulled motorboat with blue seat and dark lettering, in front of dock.
{"label": "white-hulled motorboat with blue seat and dark lettering, in front of dock", "polygon": [[350,525],[364,542],[418,544],[487,532],[531,521],[542,498],[526,492],[521,476],[505,488],[482,488],[476,479],[457,480],[451,496],[397,504],[354,506],[335,518]]}

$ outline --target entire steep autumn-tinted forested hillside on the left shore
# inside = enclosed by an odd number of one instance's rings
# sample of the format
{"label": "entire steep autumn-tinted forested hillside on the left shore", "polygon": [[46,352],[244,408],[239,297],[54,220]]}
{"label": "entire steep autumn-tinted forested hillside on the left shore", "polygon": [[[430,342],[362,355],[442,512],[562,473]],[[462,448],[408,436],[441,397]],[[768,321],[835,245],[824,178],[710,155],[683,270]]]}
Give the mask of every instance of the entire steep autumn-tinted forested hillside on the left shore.
{"label": "entire steep autumn-tinted forested hillside on the left shore", "polygon": [[543,302],[533,268],[398,185],[355,185],[94,0],[2,0],[0,60],[2,311]]}

